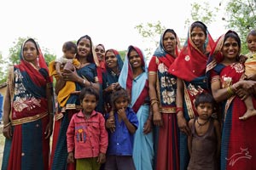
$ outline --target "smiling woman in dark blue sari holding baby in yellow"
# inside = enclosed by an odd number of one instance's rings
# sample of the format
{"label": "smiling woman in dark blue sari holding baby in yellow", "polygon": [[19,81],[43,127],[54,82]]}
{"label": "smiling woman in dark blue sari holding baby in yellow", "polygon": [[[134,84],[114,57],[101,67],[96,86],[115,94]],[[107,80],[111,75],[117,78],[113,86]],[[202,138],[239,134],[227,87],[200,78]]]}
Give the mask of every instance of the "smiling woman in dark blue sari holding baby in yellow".
{"label": "smiling woman in dark blue sari holding baby in yellow", "polygon": [[[100,91],[102,83],[102,72],[96,57],[93,43],[89,36],[80,37],[78,42],[78,54],[76,58],[79,60],[81,67],[77,71],[67,71],[63,73],[64,81],[56,82],[55,93],[65,84],[65,81],[73,81],[76,83],[76,91],[71,94],[67,100],[66,112],[63,114],[61,110],[55,115],[55,127],[51,154],[51,169],[74,169],[75,166],[67,164],[67,127],[74,113],[81,109],[79,103],[79,91],[88,86],[96,88]],[[99,101],[100,103],[100,101]],[[101,105],[101,104],[100,104]],[[99,104],[98,104],[99,106]],[[99,111],[101,109],[98,109]]]}

